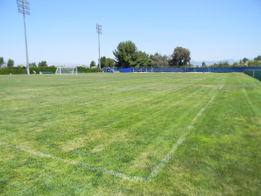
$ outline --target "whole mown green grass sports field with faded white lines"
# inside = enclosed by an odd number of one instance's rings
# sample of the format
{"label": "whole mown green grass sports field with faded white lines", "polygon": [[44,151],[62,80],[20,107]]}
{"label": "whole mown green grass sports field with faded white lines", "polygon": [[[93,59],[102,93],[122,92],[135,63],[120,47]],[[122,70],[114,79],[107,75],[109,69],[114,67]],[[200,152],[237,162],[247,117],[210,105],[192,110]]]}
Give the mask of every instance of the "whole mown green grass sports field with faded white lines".
{"label": "whole mown green grass sports field with faded white lines", "polygon": [[261,195],[243,73],[0,76],[0,195]]}

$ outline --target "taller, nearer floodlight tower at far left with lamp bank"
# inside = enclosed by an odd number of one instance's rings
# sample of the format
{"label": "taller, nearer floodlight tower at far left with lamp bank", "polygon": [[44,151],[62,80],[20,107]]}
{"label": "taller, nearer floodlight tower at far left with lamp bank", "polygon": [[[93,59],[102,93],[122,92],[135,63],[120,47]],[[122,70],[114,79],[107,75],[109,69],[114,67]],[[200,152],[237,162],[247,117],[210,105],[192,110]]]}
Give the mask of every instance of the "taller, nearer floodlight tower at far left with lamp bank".
{"label": "taller, nearer floodlight tower at far left with lamp bank", "polygon": [[29,70],[29,62],[28,62],[28,51],[27,51],[27,39],[26,39],[26,26],[25,26],[25,14],[30,15],[30,5],[29,1],[27,0],[16,0],[18,11],[24,14],[24,36],[25,36],[25,50],[26,50],[26,67],[27,67],[27,74],[30,74]]}

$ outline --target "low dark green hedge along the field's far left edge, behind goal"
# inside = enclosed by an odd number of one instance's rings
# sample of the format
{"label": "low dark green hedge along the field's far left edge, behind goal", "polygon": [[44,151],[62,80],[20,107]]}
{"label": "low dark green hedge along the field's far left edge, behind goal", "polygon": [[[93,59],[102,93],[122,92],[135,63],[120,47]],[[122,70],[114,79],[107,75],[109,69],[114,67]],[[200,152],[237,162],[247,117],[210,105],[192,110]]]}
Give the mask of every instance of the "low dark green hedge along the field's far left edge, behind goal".
{"label": "low dark green hedge along the field's far left edge, behind goal", "polygon": [[[56,68],[53,67],[44,67],[44,68],[31,68],[30,74],[33,74],[33,71],[35,71],[37,74],[39,72],[52,72],[55,73]],[[84,68],[78,68],[78,72],[84,72],[84,73],[98,73],[100,72],[99,69],[84,69]],[[17,67],[10,67],[10,68],[0,68],[0,74],[27,74],[26,69],[21,69]]]}

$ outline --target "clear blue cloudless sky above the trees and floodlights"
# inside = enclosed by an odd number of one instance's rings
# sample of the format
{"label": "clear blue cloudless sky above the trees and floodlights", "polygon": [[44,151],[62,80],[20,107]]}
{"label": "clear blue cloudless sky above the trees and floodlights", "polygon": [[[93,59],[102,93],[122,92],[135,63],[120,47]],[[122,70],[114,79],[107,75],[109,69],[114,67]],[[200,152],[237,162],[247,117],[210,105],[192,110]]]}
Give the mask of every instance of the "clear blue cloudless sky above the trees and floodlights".
{"label": "clear blue cloudless sky above the trees and floodlights", "polygon": [[[261,55],[261,0],[29,0],[29,62],[50,66],[114,58],[121,41],[149,54],[190,49],[192,61]],[[26,64],[24,20],[16,0],[0,0],[0,56]]]}

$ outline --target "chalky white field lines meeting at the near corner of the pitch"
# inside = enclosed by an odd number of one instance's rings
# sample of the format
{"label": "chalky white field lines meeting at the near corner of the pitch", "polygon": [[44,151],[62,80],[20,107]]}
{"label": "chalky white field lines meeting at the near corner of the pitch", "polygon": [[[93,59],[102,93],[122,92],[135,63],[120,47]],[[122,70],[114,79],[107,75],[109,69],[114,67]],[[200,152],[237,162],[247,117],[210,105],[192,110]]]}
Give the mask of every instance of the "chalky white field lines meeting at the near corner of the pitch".
{"label": "chalky white field lines meeting at the near corner of the pitch", "polygon": [[[224,85],[222,85],[219,89],[221,90],[223,88],[223,86]],[[191,125],[187,127],[187,131],[177,140],[177,142],[173,145],[172,149],[166,154],[166,156],[154,168],[154,170],[150,173],[150,175],[148,177],[141,177],[141,176],[135,176],[135,175],[126,175],[124,173],[120,173],[120,172],[117,172],[115,170],[108,170],[108,169],[103,168],[103,167],[96,167],[96,166],[93,166],[93,165],[90,165],[90,164],[87,164],[87,163],[83,163],[83,162],[71,161],[71,160],[68,160],[68,159],[62,159],[62,158],[59,158],[57,156],[53,156],[51,154],[46,154],[46,153],[43,153],[43,152],[38,152],[38,151],[26,149],[24,147],[19,147],[19,146],[7,144],[5,142],[0,142],[0,145],[14,147],[16,149],[19,149],[19,150],[22,150],[22,151],[25,151],[25,152],[28,152],[28,153],[31,153],[31,154],[35,154],[35,155],[38,155],[38,156],[55,159],[57,161],[70,163],[70,164],[74,164],[74,165],[78,165],[78,166],[83,166],[83,167],[88,168],[89,170],[95,170],[95,171],[100,171],[100,172],[103,172],[103,173],[108,173],[108,174],[115,175],[117,177],[120,177],[120,178],[126,179],[126,180],[150,182],[160,172],[160,170],[163,169],[166,166],[166,164],[172,158],[171,154],[173,154],[177,150],[177,148],[183,143],[183,141],[186,139],[186,136],[188,135],[188,133],[190,132],[191,128],[193,127],[193,124],[196,122],[196,120],[202,114],[202,112],[206,109],[206,107],[209,104],[212,103],[212,101],[214,100],[216,95],[217,95],[217,93],[215,93],[212,96],[211,100],[197,113],[197,115],[194,117]]]}

